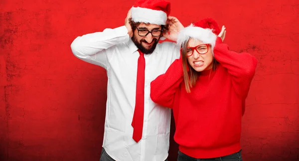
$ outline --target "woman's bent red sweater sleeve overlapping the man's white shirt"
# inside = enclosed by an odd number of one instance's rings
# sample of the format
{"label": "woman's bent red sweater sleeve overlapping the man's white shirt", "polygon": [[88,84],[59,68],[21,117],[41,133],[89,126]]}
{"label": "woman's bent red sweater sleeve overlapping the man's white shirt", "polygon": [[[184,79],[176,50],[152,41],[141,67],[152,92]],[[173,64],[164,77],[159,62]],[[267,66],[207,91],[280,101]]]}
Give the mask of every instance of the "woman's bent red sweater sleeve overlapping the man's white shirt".
{"label": "woman's bent red sweater sleeve overlapping the man's white shirt", "polygon": [[183,81],[182,60],[175,59],[164,74],[150,83],[150,98],[153,102],[168,108],[173,107],[175,93]]}

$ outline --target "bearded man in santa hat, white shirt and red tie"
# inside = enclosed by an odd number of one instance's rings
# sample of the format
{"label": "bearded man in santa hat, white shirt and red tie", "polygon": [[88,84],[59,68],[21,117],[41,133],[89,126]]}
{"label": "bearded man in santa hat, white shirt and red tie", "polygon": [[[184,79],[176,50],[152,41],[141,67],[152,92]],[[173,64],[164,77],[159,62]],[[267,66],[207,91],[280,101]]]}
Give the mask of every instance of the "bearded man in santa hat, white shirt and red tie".
{"label": "bearded man in santa hat, white shirt and red tie", "polygon": [[[171,111],[150,100],[150,82],[179,58],[183,25],[166,0],[138,0],[125,25],[77,37],[76,57],[107,70],[107,104],[100,161],[165,161]],[[169,34],[167,30],[169,29]]]}

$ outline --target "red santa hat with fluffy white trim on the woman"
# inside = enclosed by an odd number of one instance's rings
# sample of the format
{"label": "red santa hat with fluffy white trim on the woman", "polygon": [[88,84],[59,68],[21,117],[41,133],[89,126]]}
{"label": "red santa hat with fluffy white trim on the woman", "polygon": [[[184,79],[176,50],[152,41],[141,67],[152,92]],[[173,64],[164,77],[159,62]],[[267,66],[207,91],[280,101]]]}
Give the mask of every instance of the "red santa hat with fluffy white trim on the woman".
{"label": "red santa hat with fluffy white trim on the woman", "polygon": [[205,18],[190,24],[178,33],[177,44],[180,46],[189,40],[195,38],[203,43],[212,44],[212,49],[215,46],[217,35],[220,33],[218,23],[212,18]]}

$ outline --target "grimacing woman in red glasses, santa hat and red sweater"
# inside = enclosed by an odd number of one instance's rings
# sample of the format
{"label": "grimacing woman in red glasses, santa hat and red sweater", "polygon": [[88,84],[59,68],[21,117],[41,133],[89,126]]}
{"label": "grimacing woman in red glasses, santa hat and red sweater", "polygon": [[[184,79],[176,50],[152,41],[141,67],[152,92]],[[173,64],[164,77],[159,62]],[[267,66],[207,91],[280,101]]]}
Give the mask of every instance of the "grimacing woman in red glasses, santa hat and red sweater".
{"label": "grimacing woman in red glasses, santa hat and red sweater", "polygon": [[213,19],[185,27],[180,59],[151,82],[152,101],[173,109],[177,161],[242,161],[242,109],[257,60],[230,51],[224,35]]}

